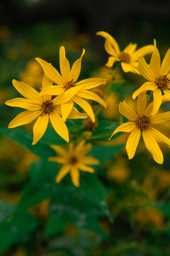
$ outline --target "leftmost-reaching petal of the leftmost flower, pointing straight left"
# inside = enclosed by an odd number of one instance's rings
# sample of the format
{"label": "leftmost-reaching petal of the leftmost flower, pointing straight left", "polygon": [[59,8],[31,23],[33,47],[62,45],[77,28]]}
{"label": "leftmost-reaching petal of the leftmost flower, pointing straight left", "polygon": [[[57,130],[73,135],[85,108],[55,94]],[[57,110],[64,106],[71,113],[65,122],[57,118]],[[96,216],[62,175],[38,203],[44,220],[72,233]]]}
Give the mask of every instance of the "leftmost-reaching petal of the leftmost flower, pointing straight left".
{"label": "leftmost-reaching petal of the leftmost flower, pointing straight left", "polygon": [[30,111],[41,110],[41,102],[34,100],[27,100],[23,98],[15,98],[12,100],[6,100],[5,104],[11,107],[25,108]]}

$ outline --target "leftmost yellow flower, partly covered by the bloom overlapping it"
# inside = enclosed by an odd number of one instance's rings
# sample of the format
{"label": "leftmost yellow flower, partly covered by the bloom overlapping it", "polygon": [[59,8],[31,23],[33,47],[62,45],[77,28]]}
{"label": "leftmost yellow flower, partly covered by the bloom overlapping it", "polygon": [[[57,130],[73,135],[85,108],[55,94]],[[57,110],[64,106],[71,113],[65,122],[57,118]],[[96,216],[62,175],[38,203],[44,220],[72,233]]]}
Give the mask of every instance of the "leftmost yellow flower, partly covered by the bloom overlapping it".
{"label": "leftmost yellow flower, partly covered by the bloom overlapping it", "polygon": [[[23,82],[12,80],[13,86],[18,92],[24,96],[24,98],[15,98],[13,100],[5,101],[5,104],[12,107],[20,107],[27,109],[16,116],[8,128],[14,128],[19,125],[28,124],[38,118],[33,126],[33,143],[36,144],[41,139],[44,132],[46,131],[48,121],[50,118],[51,124],[55,131],[67,142],[69,142],[69,132],[66,124],[61,118],[61,106],[57,106],[56,97],[53,99],[51,95],[43,95],[39,97],[39,93],[33,89],[30,85]],[[42,89],[47,86],[51,86],[52,82],[44,74],[42,80]],[[88,115],[81,114],[76,108],[72,108],[68,118],[86,118]]]}

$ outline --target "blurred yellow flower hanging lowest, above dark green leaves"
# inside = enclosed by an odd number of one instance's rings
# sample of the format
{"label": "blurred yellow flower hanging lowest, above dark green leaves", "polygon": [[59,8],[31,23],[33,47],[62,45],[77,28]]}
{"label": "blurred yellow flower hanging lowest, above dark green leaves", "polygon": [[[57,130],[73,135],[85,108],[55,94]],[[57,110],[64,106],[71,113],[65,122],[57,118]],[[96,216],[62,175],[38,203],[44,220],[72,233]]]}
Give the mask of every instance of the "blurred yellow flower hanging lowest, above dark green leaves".
{"label": "blurred yellow flower hanging lowest, above dark green leaves", "polygon": [[80,171],[93,173],[94,169],[87,164],[98,164],[99,160],[86,154],[92,149],[92,143],[85,144],[85,140],[80,141],[77,146],[69,143],[68,152],[61,146],[51,145],[59,156],[49,157],[48,161],[54,161],[63,164],[56,176],[56,182],[59,183],[63,177],[70,171],[71,180],[74,186],[79,187]]}

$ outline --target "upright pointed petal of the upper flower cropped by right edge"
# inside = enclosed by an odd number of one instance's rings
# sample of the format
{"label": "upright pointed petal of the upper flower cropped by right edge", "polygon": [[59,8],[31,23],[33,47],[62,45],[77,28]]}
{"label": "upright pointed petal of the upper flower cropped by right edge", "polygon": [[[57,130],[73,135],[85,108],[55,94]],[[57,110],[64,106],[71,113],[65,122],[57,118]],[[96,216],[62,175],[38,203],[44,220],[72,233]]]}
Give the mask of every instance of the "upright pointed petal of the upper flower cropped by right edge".
{"label": "upright pointed petal of the upper flower cropped by right edge", "polygon": [[160,55],[159,55],[159,51],[156,47],[156,40],[154,39],[153,42],[154,42],[154,50],[152,53],[152,58],[151,58],[149,67],[153,71],[154,75],[156,77],[158,77],[160,74]]}

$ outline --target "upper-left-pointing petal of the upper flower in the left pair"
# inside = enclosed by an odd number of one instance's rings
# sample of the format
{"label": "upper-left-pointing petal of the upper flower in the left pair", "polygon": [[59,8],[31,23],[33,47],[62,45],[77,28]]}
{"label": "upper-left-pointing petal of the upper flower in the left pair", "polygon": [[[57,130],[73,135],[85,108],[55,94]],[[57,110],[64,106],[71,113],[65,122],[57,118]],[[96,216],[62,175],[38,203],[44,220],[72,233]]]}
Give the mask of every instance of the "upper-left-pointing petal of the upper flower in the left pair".
{"label": "upper-left-pointing petal of the upper flower in the left pair", "polygon": [[51,81],[53,81],[57,85],[65,84],[63,77],[50,63],[40,58],[35,58],[35,60],[37,60],[40,63],[42,69],[44,70],[44,73]]}

